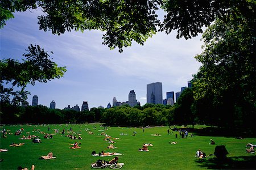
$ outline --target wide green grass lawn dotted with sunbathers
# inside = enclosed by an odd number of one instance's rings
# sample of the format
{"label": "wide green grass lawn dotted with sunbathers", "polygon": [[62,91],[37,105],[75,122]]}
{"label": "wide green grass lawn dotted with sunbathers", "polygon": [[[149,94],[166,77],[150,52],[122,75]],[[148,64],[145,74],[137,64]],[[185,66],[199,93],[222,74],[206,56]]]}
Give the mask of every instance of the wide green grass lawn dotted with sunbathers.
{"label": "wide green grass lawn dotted with sunbathers", "polygon": [[[93,129],[96,126],[96,129]],[[179,134],[173,131],[171,135],[167,134],[168,127],[145,128],[144,132],[141,128],[124,128],[109,127],[105,131],[106,134],[119,138],[114,140],[115,149],[107,149],[109,143],[104,141],[104,136],[100,135],[100,124],[83,124],[83,125],[49,125],[53,129],[59,129],[60,132],[65,128],[67,130],[72,127],[73,132],[81,133],[82,140],[72,140],[62,136],[60,133],[53,135],[53,139],[44,139],[43,134],[32,132],[40,129],[48,133],[48,125],[14,125],[4,126],[10,130],[9,133],[15,133],[17,129],[24,128],[22,134],[27,136],[30,134],[39,135],[42,143],[32,143],[32,140],[21,140],[22,137],[14,134],[7,135],[7,138],[0,138],[0,148],[6,148],[9,151],[0,152],[3,162],[0,163],[0,169],[17,169],[17,167],[30,168],[32,164],[35,169],[91,169],[90,164],[96,162],[97,159],[110,160],[114,156],[98,157],[92,156],[92,151],[101,152],[119,152],[119,163],[125,163],[122,169],[255,169],[255,154],[245,152],[247,143],[256,143],[256,138],[235,139],[234,137],[210,137],[199,136],[180,139]],[[201,127],[201,126],[200,126]],[[199,128],[196,126],[195,128]],[[202,127],[201,127],[202,128]],[[3,126],[1,126],[1,130]],[[86,131],[90,129],[93,134],[90,135]],[[133,136],[133,131],[137,134]],[[172,131],[171,131],[172,132]],[[120,135],[121,133],[127,135]],[[175,134],[178,138],[175,138]],[[151,134],[161,134],[159,137]],[[189,133],[190,135],[191,133]],[[216,142],[216,145],[225,145],[228,150],[228,159],[218,160],[215,156],[209,156],[207,159],[195,158],[196,151],[200,148],[207,155],[213,154],[214,145],[209,145],[210,139]],[[69,144],[79,141],[81,148],[72,150]],[[168,142],[175,141],[176,145]],[[25,145],[20,147],[10,147],[11,143],[24,142]],[[152,143],[153,146],[148,147],[149,152],[139,152],[143,143]],[[53,152],[56,159],[41,160],[42,155]]]}

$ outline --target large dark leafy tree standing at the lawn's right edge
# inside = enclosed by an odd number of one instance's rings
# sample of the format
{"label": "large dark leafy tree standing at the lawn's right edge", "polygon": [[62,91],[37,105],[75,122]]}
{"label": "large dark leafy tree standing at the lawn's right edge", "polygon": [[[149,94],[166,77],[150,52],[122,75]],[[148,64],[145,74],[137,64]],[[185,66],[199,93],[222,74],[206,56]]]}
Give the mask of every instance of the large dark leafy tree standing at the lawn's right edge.
{"label": "large dark leafy tree standing at the lawn's right edge", "polygon": [[219,126],[233,127],[241,117],[243,125],[251,126],[256,113],[256,19],[239,13],[227,18],[217,19],[203,35],[204,52],[196,56],[203,66],[194,76],[195,98],[213,96],[207,101]]}

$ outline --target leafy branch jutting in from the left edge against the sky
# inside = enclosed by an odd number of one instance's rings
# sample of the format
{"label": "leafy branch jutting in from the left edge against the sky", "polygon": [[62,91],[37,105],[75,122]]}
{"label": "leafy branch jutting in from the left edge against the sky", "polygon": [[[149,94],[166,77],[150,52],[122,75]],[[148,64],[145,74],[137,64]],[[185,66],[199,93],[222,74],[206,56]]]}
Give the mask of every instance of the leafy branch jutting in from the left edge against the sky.
{"label": "leafy branch jutting in from the left edge against the sky", "polygon": [[[27,95],[30,94],[24,90],[27,84],[34,86],[36,81],[47,83],[51,79],[59,79],[65,73],[65,67],[58,67],[39,45],[31,44],[26,51],[27,53],[23,54],[26,59],[22,59],[22,62],[9,58],[1,59],[1,101],[7,103],[11,101],[14,105],[24,103]],[[15,89],[17,90],[15,91]],[[13,96],[12,100],[11,96]]]}

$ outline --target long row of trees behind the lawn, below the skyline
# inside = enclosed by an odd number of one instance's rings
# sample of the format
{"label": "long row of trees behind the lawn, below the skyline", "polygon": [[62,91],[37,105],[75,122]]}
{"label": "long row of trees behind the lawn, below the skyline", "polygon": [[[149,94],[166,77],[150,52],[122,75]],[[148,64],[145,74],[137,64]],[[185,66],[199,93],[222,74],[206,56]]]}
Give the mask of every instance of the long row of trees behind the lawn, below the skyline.
{"label": "long row of trees behind the lawn, below the skyline", "polygon": [[[77,112],[72,109],[49,109],[43,105],[20,107],[1,103],[2,124],[65,124],[103,122],[110,126],[195,125],[207,124],[222,128],[255,128],[255,108],[241,111],[230,105],[212,106],[212,99],[195,100],[193,87],[185,89],[174,106],[162,104],[122,105],[114,108],[92,108]],[[231,101],[232,102],[232,101]],[[226,103],[225,103],[226,104]],[[245,114],[246,113],[246,114]],[[248,117],[249,116],[249,117]]]}

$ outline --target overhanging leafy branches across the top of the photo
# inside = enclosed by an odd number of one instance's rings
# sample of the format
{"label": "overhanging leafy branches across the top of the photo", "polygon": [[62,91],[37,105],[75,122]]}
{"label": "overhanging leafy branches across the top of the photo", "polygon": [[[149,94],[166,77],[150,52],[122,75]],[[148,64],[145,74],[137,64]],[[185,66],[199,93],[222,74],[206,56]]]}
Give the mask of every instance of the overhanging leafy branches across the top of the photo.
{"label": "overhanging leafy branches across the top of the photo", "polygon": [[[143,45],[157,31],[170,33],[177,29],[177,38],[185,39],[203,32],[216,18],[226,19],[227,14],[254,15],[252,0],[88,0],[88,1],[19,1],[0,2],[0,28],[13,12],[40,8],[39,29],[60,35],[65,31],[100,29],[105,31],[104,42],[110,49],[130,46],[132,41]],[[159,19],[156,11],[166,11]],[[161,22],[160,20],[163,20]]]}

